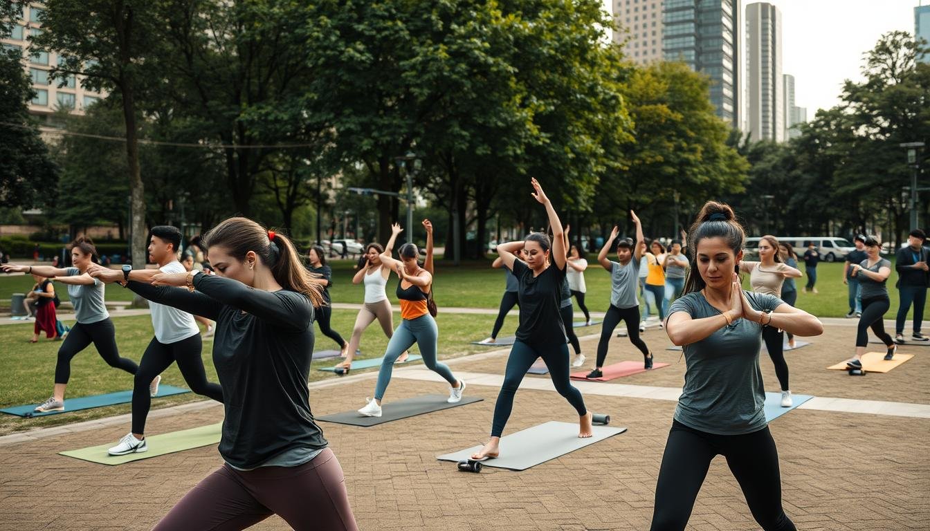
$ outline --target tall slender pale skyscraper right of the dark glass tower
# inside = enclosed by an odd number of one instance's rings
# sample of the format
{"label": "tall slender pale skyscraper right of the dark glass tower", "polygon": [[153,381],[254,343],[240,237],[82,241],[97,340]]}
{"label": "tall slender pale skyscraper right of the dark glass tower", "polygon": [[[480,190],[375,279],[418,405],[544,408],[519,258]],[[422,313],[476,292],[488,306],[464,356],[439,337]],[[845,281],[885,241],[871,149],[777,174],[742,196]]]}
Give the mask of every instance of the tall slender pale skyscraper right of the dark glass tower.
{"label": "tall slender pale skyscraper right of the dark glass tower", "polygon": [[781,75],[781,12],[777,7],[766,2],[746,7],[746,57],[750,138],[784,141],[785,81]]}

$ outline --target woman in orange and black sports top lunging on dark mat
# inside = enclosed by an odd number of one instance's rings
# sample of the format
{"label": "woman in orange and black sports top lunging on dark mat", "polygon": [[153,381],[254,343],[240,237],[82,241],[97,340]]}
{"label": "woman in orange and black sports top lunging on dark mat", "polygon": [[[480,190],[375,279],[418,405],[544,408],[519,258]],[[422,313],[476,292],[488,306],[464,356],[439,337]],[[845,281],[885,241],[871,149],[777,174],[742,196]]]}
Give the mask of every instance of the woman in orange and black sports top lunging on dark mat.
{"label": "woman in orange and black sports top lunging on dark mat", "polygon": [[456,404],[462,399],[465,382],[453,376],[445,364],[436,360],[439,329],[432,318],[427,300],[432,290],[432,274],[419,267],[419,249],[413,244],[404,244],[399,250],[401,259],[393,259],[390,249],[397,235],[403,232],[401,226],[394,223],[391,227],[391,239],[384,253],[380,256],[385,268],[396,272],[400,281],[397,283],[397,299],[400,299],[401,325],[394,330],[388,349],[384,352],[378,383],[375,385],[375,398],[367,401],[365,407],[358,410],[365,417],[381,416],[381,399],[391,383],[391,373],[397,358],[416,343],[423,356],[426,368],[443,377],[449,383],[449,404]]}

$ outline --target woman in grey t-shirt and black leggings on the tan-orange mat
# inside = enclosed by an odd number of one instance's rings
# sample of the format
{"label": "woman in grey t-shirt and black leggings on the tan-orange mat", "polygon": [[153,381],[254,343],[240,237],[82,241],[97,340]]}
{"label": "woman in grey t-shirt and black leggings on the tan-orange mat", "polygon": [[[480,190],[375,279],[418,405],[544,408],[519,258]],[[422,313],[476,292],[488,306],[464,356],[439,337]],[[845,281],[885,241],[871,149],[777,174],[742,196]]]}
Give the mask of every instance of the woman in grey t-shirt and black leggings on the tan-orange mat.
{"label": "woman in grey t-shirt and black leggings on the tan-orange mat", "polygon": [[895,341],[884,331],[884,314],[891,308],[888,287],[885,285],[891,274],[891,262],[879,256],[881,244],[878,238],[868,236],[865,244],[868,258],[850,268],[852,277],[859,281],[859,294],[862,297],[862,316],[859,317],[856,333],[856,354],[846,362],[846,366],[854,369],[862,368],[862,356],[869,345],[870,327],[878,339],[884,342],[887,349],[884,359],[894,359],[897,352]]}

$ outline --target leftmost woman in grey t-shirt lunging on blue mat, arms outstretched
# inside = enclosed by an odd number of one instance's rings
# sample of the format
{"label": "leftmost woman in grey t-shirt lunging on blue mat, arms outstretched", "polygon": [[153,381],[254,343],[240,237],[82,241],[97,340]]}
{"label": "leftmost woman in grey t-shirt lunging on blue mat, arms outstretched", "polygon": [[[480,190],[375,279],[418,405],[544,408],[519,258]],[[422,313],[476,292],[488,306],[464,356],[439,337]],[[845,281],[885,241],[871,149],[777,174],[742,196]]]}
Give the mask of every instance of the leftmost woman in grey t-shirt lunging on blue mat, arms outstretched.
{"label": "leftmost woman in grey t-shirt lunging on blue mat, arms outstretched", "polygon": [[45,402],[35,406],[36,413],[64,411],[64,392],[71,378],[71,360],[91,343],[107,365],[125,370],[131,375],[135,375],[139,370],[136,362],[120,357],[116,347],[116,329],[103,302],[105,286],[100,280],[87,274],[90,264],[98,257],[97,247],[85,236],[78,236],[68,247],[71,250],[73,267],[16,264],[0,266],[4,272],[28,272],[67,285],[68,297],[74,306],[77,323],[72,326],[71,332],[59,348],[58,361],[55,364],[55,390]]}

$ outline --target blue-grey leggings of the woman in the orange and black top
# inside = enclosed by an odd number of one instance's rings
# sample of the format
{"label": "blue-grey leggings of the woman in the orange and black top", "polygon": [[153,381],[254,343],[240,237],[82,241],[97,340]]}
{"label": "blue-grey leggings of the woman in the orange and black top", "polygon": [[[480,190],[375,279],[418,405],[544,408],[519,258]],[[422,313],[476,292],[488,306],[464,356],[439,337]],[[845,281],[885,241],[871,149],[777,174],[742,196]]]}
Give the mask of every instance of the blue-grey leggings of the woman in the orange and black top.
{"label": "blue-grey leggings of the woman in the orange and black top", "polygon": [[381,362],[381,369],[378,371],[375,398],[379,401],[384,398],[384,392],[387,391],[388,384],[391,383],[394,362],[414,343],[419,346],[419,355],[423,356],[423,363],[426,368],[445,378],[445,381],[454,387],[458,380],[452,375],[452,371],[445,364],[436,361],[436,341],[438,339],[439,328],[436,327],[436,321],[429,313],[424,313],[416,319],[404,319],[401,325],[394,330],[391,340],[388,341],[388,350],[384,352],[384,361]]}

